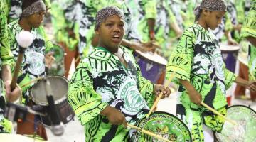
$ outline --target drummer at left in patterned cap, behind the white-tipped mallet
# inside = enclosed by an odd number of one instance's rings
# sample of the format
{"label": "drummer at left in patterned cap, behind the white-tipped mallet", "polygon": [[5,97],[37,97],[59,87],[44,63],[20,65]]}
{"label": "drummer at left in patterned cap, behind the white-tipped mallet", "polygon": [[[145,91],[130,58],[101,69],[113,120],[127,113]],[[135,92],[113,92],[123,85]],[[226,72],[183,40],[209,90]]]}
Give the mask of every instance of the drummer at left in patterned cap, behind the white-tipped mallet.
{"label": "drummer at left in patterned cap, behind the white-tipped mallet", "polygon": [[[21,65],[21,74],[18,76],[18,84],[23,85],[31,82],[37,77],[44,77],[46,75],[46,66],[50,67],[54,62],[53,53],[47,53],[53,47],[52,43],[47,38],[41,23],[43,16],[46,13],[46,6],[41,0],[24,0],[22,3],[21,17],[8,25],[8,41],[9,50],[14,54],[15,60],[18,56],[18,43],[16,35],[22,31],[30,31],[33,34],[33,43],[30,45],[25,53]],[[22,88],[22,104],[32,105],[29,89],[33,87],[34,82]],[[47,140],[46,131],[43,125],[38,123],[37,117],[29,114],[28,121],[18,123],[17,133],[31,134],[35,132]]]}

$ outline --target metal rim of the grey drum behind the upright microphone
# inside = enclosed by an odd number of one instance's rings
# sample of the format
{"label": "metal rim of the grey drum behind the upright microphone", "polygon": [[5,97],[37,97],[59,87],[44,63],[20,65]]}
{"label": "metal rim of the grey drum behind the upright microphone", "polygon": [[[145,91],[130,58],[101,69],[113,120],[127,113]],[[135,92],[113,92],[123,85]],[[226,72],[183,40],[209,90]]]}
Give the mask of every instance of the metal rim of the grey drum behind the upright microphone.
{"label": "metal rim of the grey drum behind the upright microphone", "polygon": [[[60,77],[60,78],[63,78],[65,80],[65,82],[68,83],[68,79],[66,79],[65,77],[61,76],[61,75],[46,75],[46,77]],[[46,78],[46,77],[43,77],[43,78]],[[43,80],[43,78],[41,80]],[[38,80],[41,81],[41,80]],[[34,86],[34,85],[33,85]],[[33,102],[35,102],[36,104],[38,105],[41,105],[41,106],[48,106],[48,102],[38,102],[34,97],[33,97],[33,94],[32,94],[32,89],[33,87],[31,88],[30,92],[31,92],[31,98],[33,100]],[[67,92],[68,94],[68,92]],[[63,97],[61,97],[60,99],[57,99],[54,101],[54,104],[58,104],[58,102],[63,102],[65,99],[67,99],[67,96],[64,95]]]}

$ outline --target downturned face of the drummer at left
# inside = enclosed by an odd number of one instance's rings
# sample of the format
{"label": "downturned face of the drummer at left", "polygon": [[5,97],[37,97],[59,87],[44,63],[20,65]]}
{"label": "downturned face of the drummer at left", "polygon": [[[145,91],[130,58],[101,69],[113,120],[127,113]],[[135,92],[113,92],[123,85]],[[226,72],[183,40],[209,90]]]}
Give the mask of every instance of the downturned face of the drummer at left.
{"label": "downturned face of the drummer at left", "polygon": [[31,16],[28,16],[28,22],[33,28],[38,28],[41,23],[43,22],[43,17],[45,15],[46,11],[41,11],[38,13],[34,13]]}

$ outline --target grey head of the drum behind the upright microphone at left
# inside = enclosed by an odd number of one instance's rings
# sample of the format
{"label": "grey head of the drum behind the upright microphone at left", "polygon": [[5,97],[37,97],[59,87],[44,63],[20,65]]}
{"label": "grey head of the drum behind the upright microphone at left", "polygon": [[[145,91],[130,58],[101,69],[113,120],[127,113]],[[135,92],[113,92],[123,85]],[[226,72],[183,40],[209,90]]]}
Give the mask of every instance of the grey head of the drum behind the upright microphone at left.
{"label": "grey head of the drum behind the upright microphone at left", "polygon": [[[60,76],[47,76],[44,77],[50,82],[50,86],[53,90],[53,99],[55,100],[55,104],[62,102],[66,99],[66,95],[68,93],[68,80],[64,77]],[[33,102],[39,105],[46,106],[48,105],[46,99],[46,82],[44,80],[39,80],[31,89],[31,97]]]}

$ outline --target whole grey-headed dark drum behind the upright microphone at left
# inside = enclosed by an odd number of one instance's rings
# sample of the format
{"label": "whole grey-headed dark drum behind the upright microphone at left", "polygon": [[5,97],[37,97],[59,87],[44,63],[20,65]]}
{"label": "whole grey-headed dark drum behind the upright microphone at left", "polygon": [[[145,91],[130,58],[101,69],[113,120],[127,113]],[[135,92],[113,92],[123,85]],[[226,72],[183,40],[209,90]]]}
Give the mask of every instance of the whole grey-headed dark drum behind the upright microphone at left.
{"label": "whole grey-headed dark drum behind the upright microphone at left", "polygon": [[[53,89],[53,99],[55,107],[58,110],[58,115],[60,116],[60,121],[62,121],[63,124],[67,124],[75,116],[75,113],[67,100],[68,80],[60,76],[47,76],[45,78],[49,80]],[[39,80],[31,88],[31,97],[33,102],[43,107],[43,110],[47,112],[48,102],[46,99],[45,83],[44,80]],[[48,116],[41,116],[41,121],[46,126],[50,126],[51,124]]]}

